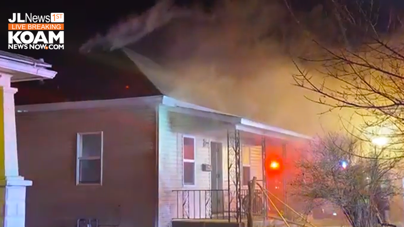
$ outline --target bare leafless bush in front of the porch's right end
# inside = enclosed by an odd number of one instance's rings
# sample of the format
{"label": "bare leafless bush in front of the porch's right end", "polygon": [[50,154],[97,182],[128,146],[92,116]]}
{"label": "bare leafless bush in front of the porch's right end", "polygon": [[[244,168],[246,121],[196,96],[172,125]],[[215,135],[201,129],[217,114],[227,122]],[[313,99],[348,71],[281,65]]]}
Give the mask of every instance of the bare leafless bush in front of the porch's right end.
{"label": "bare leafless bush in front of the porch's right end", "polygon": [[362,152],[358,145],[336,134],[313,143],[309,156],[297,163],[293,194],[309,209],[314,204],[338,207],[352,227],[374,227],[384,222],[388,199],[400,194],[392,172],[397,160],[381,160],[377,150],[372,159],[358,158],[353,155]]}

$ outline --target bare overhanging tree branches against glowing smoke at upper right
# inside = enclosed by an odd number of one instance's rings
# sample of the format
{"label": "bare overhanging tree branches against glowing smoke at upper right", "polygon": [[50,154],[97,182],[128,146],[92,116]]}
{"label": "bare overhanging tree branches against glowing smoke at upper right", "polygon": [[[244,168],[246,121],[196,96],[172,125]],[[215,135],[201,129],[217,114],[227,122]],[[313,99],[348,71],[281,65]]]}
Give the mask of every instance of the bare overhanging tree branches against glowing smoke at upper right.
{"label": "bare overhanging tree branches against glowing smoke at upper right", "polygon": [[[394,152],[401,152],[395,157],[402,158],[404,43],[389,30],[401,20],[389,15],[387,27],[381,27],[380,7],[373,1],[328,2],[335,6],[329,19],[338,25],[343,42],[330,45],[308,33],[315,53],[293,60],[295,85],[318,94],[319,98],[311,101],[328,106],[330,111],[355,110],[363,121],[358,127],[361,135],[369,134],[369,127],[388,127],[389,135],[383,136],[394,144]],[[301,29],[307,29],[286,5]],[[314,70],[309,71],[307,65]]]}

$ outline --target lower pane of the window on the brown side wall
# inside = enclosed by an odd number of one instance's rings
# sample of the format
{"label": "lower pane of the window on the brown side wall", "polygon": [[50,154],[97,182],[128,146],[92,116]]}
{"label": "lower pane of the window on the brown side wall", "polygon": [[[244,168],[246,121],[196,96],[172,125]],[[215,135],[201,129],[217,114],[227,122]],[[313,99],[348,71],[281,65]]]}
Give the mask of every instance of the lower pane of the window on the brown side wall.
{"label": "lower pane of the window on the brown side wall", "polygon": [[101,160],[80,160],[79,183],[101,183]]}

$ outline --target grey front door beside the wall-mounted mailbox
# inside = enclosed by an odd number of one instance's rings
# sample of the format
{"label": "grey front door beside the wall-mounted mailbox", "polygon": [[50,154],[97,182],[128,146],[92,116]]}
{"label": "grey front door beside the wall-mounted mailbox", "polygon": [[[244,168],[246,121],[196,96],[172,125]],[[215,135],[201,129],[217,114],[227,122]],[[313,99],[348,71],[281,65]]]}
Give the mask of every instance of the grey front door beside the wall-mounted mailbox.
{"label": "grey front door beside the wall-mounted mailbox", "polygon": [[212,214],[223,214],[224,204],[223,198],[223,145],[217,142],[210,142],[210,163],[212,166],[211,177],[211,201]]}

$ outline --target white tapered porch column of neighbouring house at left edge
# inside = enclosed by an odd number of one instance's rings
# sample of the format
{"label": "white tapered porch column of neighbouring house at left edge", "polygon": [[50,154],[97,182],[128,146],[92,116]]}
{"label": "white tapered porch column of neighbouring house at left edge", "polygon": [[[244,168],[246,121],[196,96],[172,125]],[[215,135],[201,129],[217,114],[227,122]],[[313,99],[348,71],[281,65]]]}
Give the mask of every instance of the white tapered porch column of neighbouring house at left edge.
{"label": "white tapered porch column of neighbouring house at left edge", "polygon": [[0,221],[1,227],[25,227],[25,188],[32,181],[18,173],[17,133],[11,75],[0,74]]}

